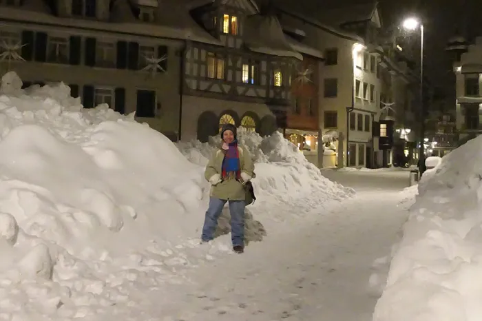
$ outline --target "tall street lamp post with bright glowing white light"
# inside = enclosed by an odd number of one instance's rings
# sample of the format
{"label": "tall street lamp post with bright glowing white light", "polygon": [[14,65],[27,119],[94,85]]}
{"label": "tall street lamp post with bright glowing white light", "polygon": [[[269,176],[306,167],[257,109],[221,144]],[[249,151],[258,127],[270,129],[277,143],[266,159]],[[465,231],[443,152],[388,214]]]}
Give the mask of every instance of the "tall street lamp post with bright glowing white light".
{"label": "tall street lamp post with bright glowing white light", "polygon": [[425,149],[423,147],[423,139],[425,138],[425,105],[423,104],[423,23],[415,18],[407,18],[402,24],[406,30],[417,30],[420,27],[420,150],[419,150],[419,171],[420,176],[423,174],[423,169],[425,168]]}

